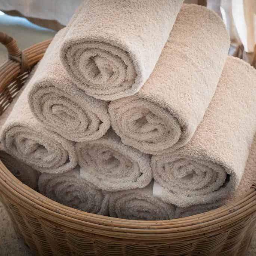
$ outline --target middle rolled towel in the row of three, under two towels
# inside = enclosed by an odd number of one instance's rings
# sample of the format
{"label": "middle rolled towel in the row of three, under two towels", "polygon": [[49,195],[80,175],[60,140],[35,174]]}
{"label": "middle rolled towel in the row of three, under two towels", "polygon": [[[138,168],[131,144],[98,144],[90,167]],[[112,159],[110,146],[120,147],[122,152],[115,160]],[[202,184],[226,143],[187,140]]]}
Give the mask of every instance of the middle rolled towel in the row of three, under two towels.
{"label": "middle rolled towel in the row of three, under two towels", "polygon": [[150,156],[124,145],[112,130],[75,147],[81,177],[105,191],[144,188],[152,180]]}

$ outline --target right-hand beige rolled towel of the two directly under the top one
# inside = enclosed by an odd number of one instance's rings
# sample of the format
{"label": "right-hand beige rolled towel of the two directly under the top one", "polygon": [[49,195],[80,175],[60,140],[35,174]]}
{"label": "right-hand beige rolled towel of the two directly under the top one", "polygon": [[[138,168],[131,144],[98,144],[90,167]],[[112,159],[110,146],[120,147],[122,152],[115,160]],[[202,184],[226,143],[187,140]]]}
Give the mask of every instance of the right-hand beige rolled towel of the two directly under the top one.
{"label": "right-hand beige rolled towel of the two directly under the top one", "polygon": [[183,4],[142,89],[109,105],[112,128],[122,142],[148,154],[185,145],[216,90],[229,44],[216,13]]}

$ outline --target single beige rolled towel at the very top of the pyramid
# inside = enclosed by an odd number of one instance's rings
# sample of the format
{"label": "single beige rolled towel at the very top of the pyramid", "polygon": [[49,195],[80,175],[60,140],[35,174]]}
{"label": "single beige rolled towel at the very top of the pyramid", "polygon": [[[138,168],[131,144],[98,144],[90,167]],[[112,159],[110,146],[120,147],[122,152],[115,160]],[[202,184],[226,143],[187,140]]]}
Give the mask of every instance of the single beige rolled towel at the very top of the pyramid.
{"label": "single beige rolled towel at the very top of the pyramid", "polygon": [[183,0],[85,0],[61,46],[67,73],[87,95],[112,101],[148,79]]}

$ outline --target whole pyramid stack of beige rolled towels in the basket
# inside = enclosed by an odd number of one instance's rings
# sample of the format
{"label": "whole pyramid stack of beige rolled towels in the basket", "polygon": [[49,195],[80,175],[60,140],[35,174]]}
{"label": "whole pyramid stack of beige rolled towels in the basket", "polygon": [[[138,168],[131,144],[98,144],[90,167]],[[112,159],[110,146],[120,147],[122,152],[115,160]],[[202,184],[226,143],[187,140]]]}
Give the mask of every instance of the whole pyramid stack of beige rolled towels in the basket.
{"label": "whole pyramid stack of beige rolled towels in the basket", "polygon": [[0,158],[22,182],[139,220],[202,213],[250,188],[256,71],[228,56],[216,13],[182,2],[81,4],[2,125]]}

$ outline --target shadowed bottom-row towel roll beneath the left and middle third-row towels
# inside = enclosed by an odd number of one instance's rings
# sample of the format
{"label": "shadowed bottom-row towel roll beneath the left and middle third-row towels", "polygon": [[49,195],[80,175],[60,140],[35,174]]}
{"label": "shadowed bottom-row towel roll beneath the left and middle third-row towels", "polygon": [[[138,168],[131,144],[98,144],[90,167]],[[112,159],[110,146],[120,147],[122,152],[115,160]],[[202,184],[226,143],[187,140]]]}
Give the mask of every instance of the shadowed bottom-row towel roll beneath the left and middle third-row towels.
{"label": "shadowed bottom-row towel roll beneath the left and middle third-row towels", "polygon": [[79,167],[62,174],[43,173],[38,187],[41,194],[58,203],[89,213],[107,215],[102,210],[103,192],[81,179]]}

